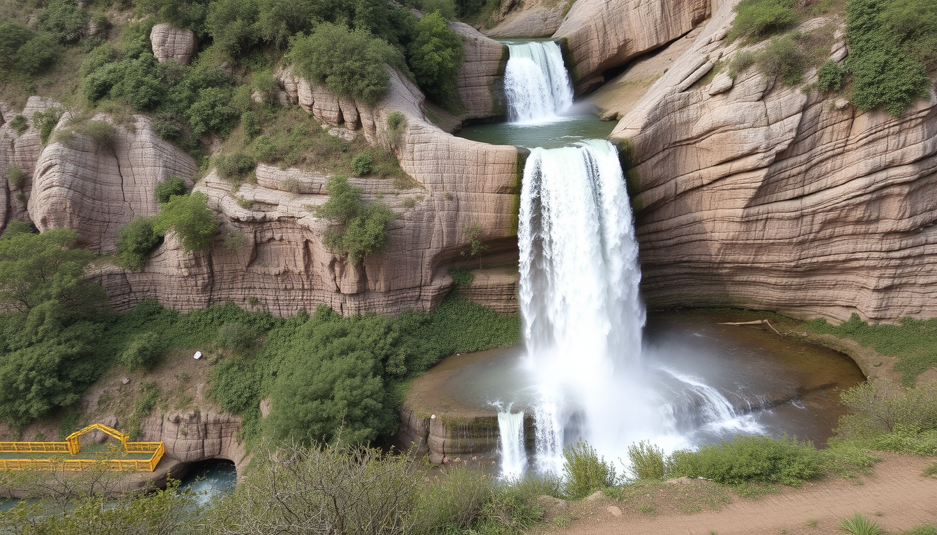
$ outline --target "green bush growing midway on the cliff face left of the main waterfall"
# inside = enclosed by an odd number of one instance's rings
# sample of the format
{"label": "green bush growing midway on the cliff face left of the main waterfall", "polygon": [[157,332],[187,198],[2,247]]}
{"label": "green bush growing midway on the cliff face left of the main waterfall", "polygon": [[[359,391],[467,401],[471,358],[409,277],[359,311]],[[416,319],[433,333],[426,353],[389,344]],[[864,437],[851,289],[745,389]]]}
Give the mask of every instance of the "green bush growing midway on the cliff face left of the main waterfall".
{"label": "green bush growing midway on the cliff face left of the main waterfall", "polygon": [[329,200],[316,210],[318,217],[333,223],[325,234],[327,247],[354,265],[387,246],[387,228],[394,220],[390,208],[378,203],[365,206],[361,188],[351,186],[342,175],[330,177],[327,187]]}

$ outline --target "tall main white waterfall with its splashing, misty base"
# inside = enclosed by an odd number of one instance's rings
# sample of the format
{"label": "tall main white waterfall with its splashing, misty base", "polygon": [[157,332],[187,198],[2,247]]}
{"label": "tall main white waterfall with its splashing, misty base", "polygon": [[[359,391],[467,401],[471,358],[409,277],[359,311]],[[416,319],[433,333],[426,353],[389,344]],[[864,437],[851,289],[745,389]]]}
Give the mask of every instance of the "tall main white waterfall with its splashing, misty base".
{"label": "tall main white waterfall with its splashing, misty base", "polygon": [[560,473],[563,447],[578,439],[625,459],[642,439],[673,450],[704,427],[756,430],[702,379],[646,369],[638,244],[614,145],[531,151],[518,244],[525,365],[539,397],[533,468]]}

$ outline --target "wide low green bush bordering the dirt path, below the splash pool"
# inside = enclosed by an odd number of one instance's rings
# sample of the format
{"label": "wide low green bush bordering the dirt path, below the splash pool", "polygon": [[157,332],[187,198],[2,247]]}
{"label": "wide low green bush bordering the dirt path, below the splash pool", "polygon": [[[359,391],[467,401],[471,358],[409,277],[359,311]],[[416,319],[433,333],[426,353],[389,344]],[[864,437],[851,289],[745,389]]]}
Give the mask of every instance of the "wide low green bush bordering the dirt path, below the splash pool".
{"label": "wide low green bush bordering the dirt path, below the splash pool", "polygon": [[673,475],[705,477],[723,484],[797,485],[823,474],[822,456],[809,441],[738,435],[733,441],[671,455]]}

